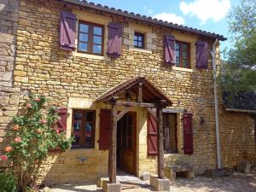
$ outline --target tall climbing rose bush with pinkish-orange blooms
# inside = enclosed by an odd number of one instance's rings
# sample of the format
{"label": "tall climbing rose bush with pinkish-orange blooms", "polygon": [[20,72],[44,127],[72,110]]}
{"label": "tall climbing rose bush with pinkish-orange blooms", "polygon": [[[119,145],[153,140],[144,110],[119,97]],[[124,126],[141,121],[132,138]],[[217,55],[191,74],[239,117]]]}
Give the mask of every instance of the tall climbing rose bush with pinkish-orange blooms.
{"label": "tall climbing rose bush with pinkish-orange blooms", "polygon": [[41,112],[45,102],[44,96],[30,96],[26,114],[14,117],[13,131],[8,135],[12,141],[0,156],[0,160],[13,160],[21,191],[34,186],[49,149],[64,151],[71,147],[73,141],[73,138],[66,138],[66,132],[56,130],[57,108],[49,108],[48,113]]}

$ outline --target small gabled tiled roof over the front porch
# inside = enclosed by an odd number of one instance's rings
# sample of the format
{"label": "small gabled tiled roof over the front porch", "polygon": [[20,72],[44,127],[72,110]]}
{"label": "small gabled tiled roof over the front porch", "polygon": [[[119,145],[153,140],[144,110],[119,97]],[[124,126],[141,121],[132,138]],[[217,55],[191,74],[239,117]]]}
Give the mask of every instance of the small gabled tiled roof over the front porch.
{"label": "small gabled tiled roof over the front porch", "polygon": [[126,80],[121,84],[118,84],[111,90],[108,90],[105,93],[103,93],[102,96],[96,98],[96,102],[107,102],[114,96],[118,96],[120,93],[124,91],[132,91],[133,93],[137,94],[139,83],[142,83],[143,102],[155,103],[159,102],[160,100],[166,100],[169,106],[172,105],[172,102],[169,100],[169,98],[164,93],[162,93],[158,88],[156,88],[148,79],[144,77],[136,77],[133,79]]}

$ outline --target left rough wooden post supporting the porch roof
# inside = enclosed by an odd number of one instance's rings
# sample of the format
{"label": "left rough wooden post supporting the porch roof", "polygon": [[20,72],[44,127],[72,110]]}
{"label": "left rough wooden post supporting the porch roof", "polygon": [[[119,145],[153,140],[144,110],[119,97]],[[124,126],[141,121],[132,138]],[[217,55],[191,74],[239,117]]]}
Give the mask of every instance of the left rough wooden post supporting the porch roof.
{"label": "left rough wooden post supporting the porch roof", "polygon": [[117,106],[116,99],[111,99],[110,148],[108,154],[109,182],[116,183],[116,137],[117,137]]}

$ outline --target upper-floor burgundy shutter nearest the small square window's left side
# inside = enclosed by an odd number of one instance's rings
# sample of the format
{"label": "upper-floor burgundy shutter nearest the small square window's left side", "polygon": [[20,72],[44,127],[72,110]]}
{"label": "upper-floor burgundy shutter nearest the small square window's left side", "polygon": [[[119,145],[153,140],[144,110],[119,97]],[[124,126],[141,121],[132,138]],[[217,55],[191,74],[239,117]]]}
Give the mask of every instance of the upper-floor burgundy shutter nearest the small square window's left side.
{"label": "upper-floor burgundy shutter nearest the small square window's left side", "polygon": [[119,57],[122,50],[123,26],[120,23],[108,24],[108,52],[111,57]]}

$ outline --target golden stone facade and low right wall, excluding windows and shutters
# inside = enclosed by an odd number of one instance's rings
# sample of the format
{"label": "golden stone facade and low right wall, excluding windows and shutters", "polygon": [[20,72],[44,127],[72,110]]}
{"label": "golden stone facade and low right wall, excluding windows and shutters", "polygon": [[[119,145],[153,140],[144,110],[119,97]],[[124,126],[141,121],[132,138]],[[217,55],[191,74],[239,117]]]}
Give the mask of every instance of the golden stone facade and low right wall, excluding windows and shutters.
{"label": "golden stone facade and low right wall, excluding windows and shutters", "polygon": [[[80,20],[104,25],[105,38],[108,37],[108,22],[123,22],[125,27],[122,55],[111,59],[106,54],[87,55],[59,49],[61,9],[72,11]],[[147,49],[132,47],[131,35],[134,30],[147,33]],[[191,68],[170,67],[164,64],[165,33],[171,33],[177,40],[190,43]],[[14,87],[20,89],[20,109],[29,92],[47,96],[49,100],[46,107],[67,107],[67,137],[71,136],[73,108],[96,110],[95,148],[71,149],[62,154],[51,154],[42,168],[41,181],[80,182],[107,176],[108,151],[99,150],[97,141],[100,109],[109,106],[94,103],[93,100],[106,90],[137,76],[146,77],[164,92],[173,102],[173,109],[186,109],[193,113],[194,154],[183,154],[183,114],[177,113],[178,153],[165,154],[166,163],[188,162],[194,166],[195,173],[216,168],[212,59],[208,55],[207,69],[199,70],[195,67],[197,40],[207,40],[209,51],[212,49],[214,39],[191,35],[188,32],[179,32],[164,26],[148,26],[147,23],[128,18],[124,21],[118,15],[99,13],[71,4],[64,5],[59,1],[21,0],[14,72]],[[106,49],[107,40],[104,42]],[[217,53],[219,64],[219,49]],[[137,112],[137,176],[141,176],[143,172],[155,172],[156,157],[148,156],[147,153],[147,111],[142,108],[132,110]],[[200,123],[202,118],[205,119],[203,124]],[[3,121],[6,122],[5,119]],[[253,119],[249,115],[227,113],[220,106],[224,166],[236,166],[243,158],[255,159],[252,129]],[[232,152],[231,148],[236,153]],[[244,157],[245,151],[247,157]]]}

